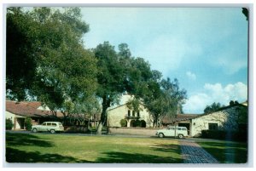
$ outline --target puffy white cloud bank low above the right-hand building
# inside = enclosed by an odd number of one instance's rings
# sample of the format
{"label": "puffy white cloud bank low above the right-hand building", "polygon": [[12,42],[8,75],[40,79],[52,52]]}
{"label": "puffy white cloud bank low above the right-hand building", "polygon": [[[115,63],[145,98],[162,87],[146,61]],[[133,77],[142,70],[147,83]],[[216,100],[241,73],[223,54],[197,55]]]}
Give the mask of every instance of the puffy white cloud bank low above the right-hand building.
{"label": "puffy white cloud bank low above the right-hand building", "polygon": [[230,100],[243,102],[247,100],[247,85],[241,82],[222,86],[221,83],[206,83],[202,92],[193,94],[183,105],[185,113],[202,113],[207,105],[219,102],[229,105]]}

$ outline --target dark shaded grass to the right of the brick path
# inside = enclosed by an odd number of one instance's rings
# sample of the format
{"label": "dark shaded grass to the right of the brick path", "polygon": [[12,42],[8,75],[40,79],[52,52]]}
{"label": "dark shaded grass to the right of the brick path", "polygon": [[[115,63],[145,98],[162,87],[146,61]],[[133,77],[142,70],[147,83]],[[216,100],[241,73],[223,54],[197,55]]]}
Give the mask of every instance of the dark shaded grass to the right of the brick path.
{"label": "dark shaded grass to the right of the brick path", "polygon": [[246,163],[247,143],[233,141],[197,142],[222,163]]}

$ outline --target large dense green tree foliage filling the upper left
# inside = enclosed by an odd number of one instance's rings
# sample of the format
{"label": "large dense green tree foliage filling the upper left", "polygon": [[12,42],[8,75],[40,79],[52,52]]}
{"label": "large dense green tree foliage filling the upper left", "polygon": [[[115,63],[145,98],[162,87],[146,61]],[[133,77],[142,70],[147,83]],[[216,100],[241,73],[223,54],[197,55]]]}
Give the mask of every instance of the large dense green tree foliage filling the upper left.
{"label": "large dense green tree foliage filling the upper left", "polygon": [[[7,14],[7,94],[73,112],[96,91],[96,58],[84,49],[89,26],[79,8],[34,8]],[[88,101],[88,100],[87,100]]]}

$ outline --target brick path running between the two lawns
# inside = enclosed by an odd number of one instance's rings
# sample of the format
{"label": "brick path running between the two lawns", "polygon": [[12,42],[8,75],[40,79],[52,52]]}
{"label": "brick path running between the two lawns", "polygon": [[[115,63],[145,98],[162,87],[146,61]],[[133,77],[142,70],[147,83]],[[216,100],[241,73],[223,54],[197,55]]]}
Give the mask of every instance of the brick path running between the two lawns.
{"label": "brick path running between the two lawns", "polygon": [[196,144],[195,141],[180,141],[184,163],[218,163],[207,151]]}

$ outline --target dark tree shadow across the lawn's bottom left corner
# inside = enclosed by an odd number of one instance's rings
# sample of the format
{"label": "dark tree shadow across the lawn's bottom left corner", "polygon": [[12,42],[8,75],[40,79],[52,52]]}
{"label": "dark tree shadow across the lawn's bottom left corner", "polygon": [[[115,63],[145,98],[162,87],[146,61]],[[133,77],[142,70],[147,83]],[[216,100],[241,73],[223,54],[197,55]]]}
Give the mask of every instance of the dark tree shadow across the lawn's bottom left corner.
{"label": "dark tree shadow across the lawn's bottom left corner", "polygon": [[20,151],[14,148],[6,148],[6,162],[88,162],[74,157],[65,157],[58,154],[41,154],[39,151]]}

